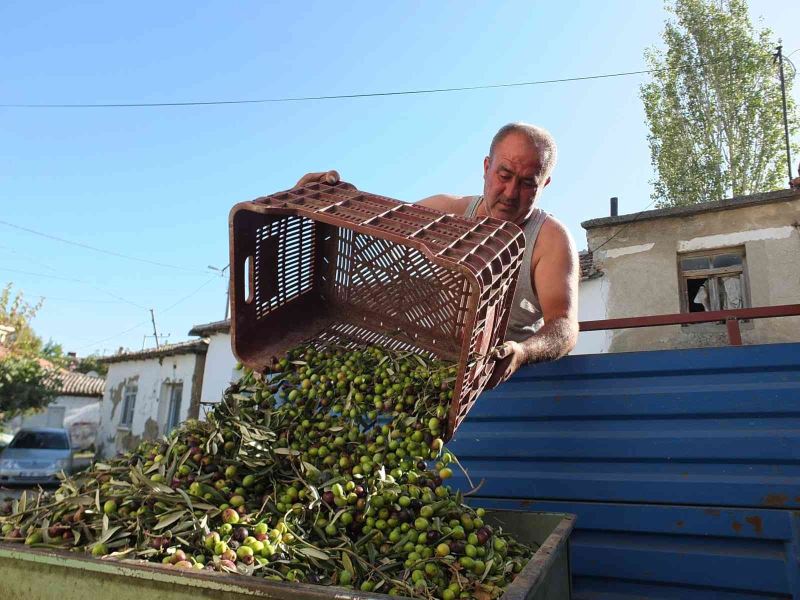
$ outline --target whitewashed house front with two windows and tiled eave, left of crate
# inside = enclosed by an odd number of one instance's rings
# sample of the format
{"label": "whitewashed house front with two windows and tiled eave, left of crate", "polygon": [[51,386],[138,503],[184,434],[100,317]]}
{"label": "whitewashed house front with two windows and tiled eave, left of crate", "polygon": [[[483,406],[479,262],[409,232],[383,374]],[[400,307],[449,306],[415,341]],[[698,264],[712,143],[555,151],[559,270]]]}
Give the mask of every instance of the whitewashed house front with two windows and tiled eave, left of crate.
{"label": "whitewashed house front with two windows and tiled eave, left of crate", "polygon": [[108,374],[98,454],[127,452],[198,418],[207,352],[203,338],[103,358]]}

